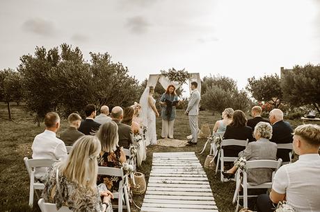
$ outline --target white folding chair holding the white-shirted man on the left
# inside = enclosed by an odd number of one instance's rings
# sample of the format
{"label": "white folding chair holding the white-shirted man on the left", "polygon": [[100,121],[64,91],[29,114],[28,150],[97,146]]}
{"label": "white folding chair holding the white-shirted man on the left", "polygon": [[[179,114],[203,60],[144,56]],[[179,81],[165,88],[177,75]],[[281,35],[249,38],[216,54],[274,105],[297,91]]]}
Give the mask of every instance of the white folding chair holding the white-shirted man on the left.
{"label": "white folding chair holding the white-shirted man on the left", "polygon": [[35,190],[43,190],[45,184],[40,182],[35,182],[35,168],[37,167],[50,167],[52,164],[58,162],[54,159],[28,159],[24,157],[24,164],[26,164],[26,170],[29,173],[30,177],[30,193],[29,193],[29,206],[33,206],[33,197]]}

